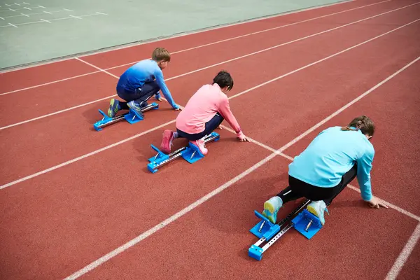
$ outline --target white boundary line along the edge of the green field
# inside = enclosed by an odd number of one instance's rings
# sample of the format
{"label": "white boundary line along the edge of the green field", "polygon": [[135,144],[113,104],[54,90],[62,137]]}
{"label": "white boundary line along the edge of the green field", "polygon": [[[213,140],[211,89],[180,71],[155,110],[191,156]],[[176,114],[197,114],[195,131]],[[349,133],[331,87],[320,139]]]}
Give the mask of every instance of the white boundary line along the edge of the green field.
{"label": "white boundary line along the edge of the green field", "polygon": [[[170,35],[170,36],[165,36],[163,38],[158,37],[158,38],[145,39],[144,41],[139,41],[139,42],[134,42],[134,43],[125,43],[125,44],[120,45],[120,46],[109,47],[106,50],[98,50],[98,51],[93,51],[93,52],[89,52],[89,53],[86,53],[86,54],[79,54],[79,55],[77,55],[77,54],[76,55],[69,55],[69,56],[64,57],[64,58],[57,57],[56,59],[51,59],[51,61],[38,62],[38,63],[34,62],[34,65],[16,66],[16,67],[13,67],[12,69],[4,69],[3,71],[0,71],[0,73],[7,73],[7,72],[19,71],[19,70],[22,70],[22,69],[29,69],[29,68],[32,68],[32,67],[42,66],[42,65],[46,65],[46,64],[55,63],[55,62],[63,62],[63,61],[66,61],[66,60],[73,59],[74,57],[85,57],[85,56],[90,56],[90,55],[97,55],[97,54],[103,53],[103,52],[113,52],[115,50],[122,50],[122,49],[125,49],[125,48],[133,48],[137,45],[145,45],[145,44],[148,44],[148,43],[155,43],[155,42],[158,42],[158,41],[169,40],[169,39],[172,39],[172,38],[179,38],[179,37],[183,37],[183,36],[200,34],[200,33],[204,33],[204,32],[211,31],[211,30],[224,29],[224,28],[235,26],[235,25],[244,25],[244,24],[247,24],[247,23],[250,23],[250,22],[255,22],[255,21],[268,20],[268,19],[271,19],[271,18],[280,18],[280,17],[283,17],[285,15],[293,15],[295,13],[302,13],[302,12],[305,12],[307,10],[316,10],[316,9],[321,9],[321,8],[328,8],[328,7],[331,7],[331,6],[337,6],[337,5],[341,5],[341,4],[344,4],[344,3],[350,3],[350,2],[353,2],[353,1],[356,1],[356,0],[343,0],[343,1],[339,1],[337,3],[330,3],[330,4],[319,5],[319,6],[309,7],[309,8],[302,8],[302,9],[292,10],[292,11],[285,12],[285,13],[277,13],[275,15],[267,15],[267,16],[262,16],[262,17],[259,17],[259,18],[253,18],[253,19],[250,19],[250,20],[242,20],[241,22],[228,23],[228,24],[225,24],[225,25],[207,27],[207,28],[204,28],[204,29],[198,29],[198,30],[193,30],[193,31],[185,31],[181,34],[173,34],[173,35]],[[389,0],[389,1],[393,1],[393,0]],[[382,2],[378,2],[378,3],[382,3]]]}

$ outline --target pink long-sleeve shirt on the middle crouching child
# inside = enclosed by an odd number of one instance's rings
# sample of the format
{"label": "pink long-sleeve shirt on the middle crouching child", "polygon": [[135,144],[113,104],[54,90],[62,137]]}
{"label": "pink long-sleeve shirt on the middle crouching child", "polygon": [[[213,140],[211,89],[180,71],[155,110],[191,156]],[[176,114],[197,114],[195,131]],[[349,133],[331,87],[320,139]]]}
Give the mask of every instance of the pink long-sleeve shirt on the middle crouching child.
{"label": "pink long-sleeve shirt on the middle crouching child", "polygon": [[241,127],[230,111],[229,99],[216,83],[203,85],[195,92],[176,118],[176,128],[188,134],[203,132],[216,113],[220,113],[238,135],[241,134]]}

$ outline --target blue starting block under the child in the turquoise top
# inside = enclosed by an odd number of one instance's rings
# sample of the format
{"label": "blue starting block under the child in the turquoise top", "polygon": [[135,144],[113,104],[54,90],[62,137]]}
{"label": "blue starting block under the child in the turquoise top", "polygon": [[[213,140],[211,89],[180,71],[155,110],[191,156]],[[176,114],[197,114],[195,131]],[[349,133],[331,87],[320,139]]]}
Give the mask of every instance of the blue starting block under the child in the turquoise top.
{"label": "blue starting block under the child in the turquoise top", "polygon": [[[304,235],[304,237],[311,239],[316,232],[321,230],[322,225],[318,217],[311,214],[307,209],[304,209],[310,202],[310,200],[302,202],[302,204],[295,208],[278,224],[270,222],[265,216],[262,216],[262,214],[254,210],[255,216],[260,218],[260,222],[254,225],[250,232],[260,240],[248,248],[248,256],[255,258],[255,260],[261,260],[262,254],[267,251],[269,246],[272,246],[272,244],[290,230],[290,228],[295,228],[295,230]],[[291,220],[291,218],[293,218],[293,220]],[[281,228],[282,226],[283,228]],[[261,247],[263,243],[265,243],[265,245]]]}

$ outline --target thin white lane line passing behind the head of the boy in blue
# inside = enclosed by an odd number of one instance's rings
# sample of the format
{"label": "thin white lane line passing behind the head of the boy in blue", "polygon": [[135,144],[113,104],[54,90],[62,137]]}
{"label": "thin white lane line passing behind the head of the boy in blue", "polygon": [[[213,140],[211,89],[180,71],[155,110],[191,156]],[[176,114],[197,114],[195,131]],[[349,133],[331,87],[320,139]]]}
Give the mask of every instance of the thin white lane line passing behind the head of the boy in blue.
{"label": "thin white lane line passing behind the head of the boy in blue", "polygon": [[[356,9],[359,9],[359,8],[365,8],[365,7],[367,7],[367,6],[377,5],[377,4],[379,4],[379,3],[384,3],[384,2],[387,2],[387,1],[392,1],[392,0],[386,0],[386,1],[381,1],[381,2],[378,2],[378,3],[372,3],[372,4],[369,4],[369,5],[366,5],[366,6],[360,6],[360,7],[358,7],[358,8],[351,8],[351,9],[349,9],[349,10],[342,10],[342,11],[340,11],[340,12],[338,12],[338,13],[331,13],[331,14],[328,14],[328,15],[323,15],[323,16],[321,16],[321,17],[317,17],[317,18],[310,18],[309,20],[302,20],[302,21],[300,21],[300,22],[294,22],[293,24],[290,24],[290,25],[297,25],[297,24],[300,24],[300,23],[303,23],[303,22],[308,22],[308,21],[310,21],[310,20],[316,20],[316,19],[318,19],[318,18],[325,18],[325,17],[331,16],[331,15],[337,15],[337,14],[339,14],[339,13],[346,13],[346,12],[349,12],[349,11],[351,11],[351,10],[356,10]],[[217,43],[223,43],[223,42],[225,42],[225,41],[230,41],[230,40],[234,40],[234,39],[237,39],[237,38],[242,38],[242,37],[245,37],[245,36],[251,36],[251,35],[253,35],[253,34],[258,34],[258,33],[262,33],[262,32],[265,32],[265,31],[270,31],[270,30],[273,30],[273,29],[279,29],[279,28],[283,28],[283,27],[288,27],[288,26],[290,26],[290,25],[281,25],[281,26],[278,26],[278,27],[273,27],[273,28],[269,28],[269,29],[263,29],[263,30],[256,31],[256,32],[253,32],[253,33],[244,34],[244,35],[242,35],[242,36],[236,36],[236,37],[228,38],[228,39],[221,40],[221,41],[215,41],[215,42],[212,42],[212,43],[207,43],[207,44],[204,44],[204,45],[197,45],[197,46],[195,46],[195,47],[193,47],[193,48],[186,48],[186,49],[183,49],[183,50],[177,50],[177,51],[174,51],[174,52],[171,52],[171,53],[172,53],[172,55],[174,55],[174,54],[176,54],[176,53],[186,52],[186,51],[188,51],[188,50],[194,50],[194,49],[197,49],[197,48],[204,48],[204,47],[206,47],[206,46],[208,46],[208,45],[214,45],[214,44],[217,44]],[[127,47],[127,48],[128,48],[128,47]],[[90,56],[90,55],[86,55],[86,56]],[[75,57],[74,59],[78,59],[78,58],[79,58],[79,57]],[[70,59],[64,59],[63,61],[66,61],[66,60],[70,60]],[[134,64],[134,63],[136,63],[136,62],[130,62],[130,63],[128,63],[128,64],[121,64],[121,65],[118,65],[118,66],[112,66],[112,67],[110,67],[110,68],[106,68],[106,69],[104,69],[104,70],[116,69],[116,68],[118,68],[118,67],[126,66],[126,65],[129,65],[129,64]],[[28,67],[28,68],[31,68],[31,67]],[[27,68],[25,68],[25,69],[27,69]],[[101,69],[101,71],[102,71],[102,69]],[[91,73],[97,73],[97,71],[94,71],[94,72],[91,72]],[[5,94],[10,94],[10,93],[13,93],[13,92],[20,92],[20,91],[22,91],[22,90],[30,90],[31,88],[34,88],[34,87],[41,87],[41,86],[43,86],[43,85],[50,85],[50,84],[52,84],[52,83],[58,83],[58,82],[62,82],[62,81],[64,81],[64,80],[70,80],[70,79],[72,79],[72,78],[79,78],[79,77],[81,77],[81,76],[86,76],[86,75],[90,75],[90,73],[85,73],[85,74],[83,74],[83,75],[73,76],[73,77],[69,77],[69,78],[63,78],[63,79],[61,79],[61,80],[55,80],[55,81],[48,82],[48,83],[43,83],[43,84],[40,84],[40,85],[33,85],[33,86],[31,86],[31,87],[25,87],[25,88],[22,88],[22,89],[19,89],[19,90],[12,90],[12,91],[10,91],[10,92],[3,92],[3,93],[1,93],[1,94],[0,94],[0,96],[1,96],[1,95],[5,95]]]}

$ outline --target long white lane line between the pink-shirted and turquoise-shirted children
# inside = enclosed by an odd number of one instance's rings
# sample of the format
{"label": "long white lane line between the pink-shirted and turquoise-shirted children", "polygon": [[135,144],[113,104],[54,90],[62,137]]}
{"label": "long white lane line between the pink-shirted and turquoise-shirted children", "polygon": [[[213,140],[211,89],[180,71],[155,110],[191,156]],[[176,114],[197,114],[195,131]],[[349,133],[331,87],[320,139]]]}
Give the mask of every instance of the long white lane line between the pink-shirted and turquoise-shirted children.
{"label": "long white lane line between the pink-shirted and turquoise-shirted children", "polygon": [[[402,67],[402,69],[400,69],[397,72],[393,73],[391,76],[389,76],[388,78],[386,78],[385,80],[383,80],[381,83],[379,83],[379,84],[375,85],[374,87],[372,87],[371,90],[365,92],[364,94],[361,94],[360,95],[360,98],[363,97],[363,96],[365,96],[369,92],[372,92],[372,90],[374,90],[375,88],[379,87],[380,85],[383,85],[384,83],[386,83],[387,80],[390,80],[391,78],[395,77],[396,75],[398,75],[398,73],[400,73],[404,69],[407,69],[407,67],[409,67],[410,65],[414,64],[414,62],[416,62],[419,59],[420,59],[420,57],[418,57],[414,61],[410,62],[409,64],[405,65],[404,67]],[[324,120],[321,120],[321,122],[319,122],[318,124],[314,125],[314,127],[311,127],[309,130],[307,130],[306,132],[304,132],[303,134],[301,134],[299,137],[296,137],[295,139],[293,139],[292,141],[290,141],[285,146],[279,148],[278,150],[276,150],[276,152],[280,152],[280,153],[283,152],[284,150],[286,150],[286,148],[292,146],[297,141],[299,141],[300,139],[302,139],[303,137],[305,137],[307,134],[309,134],[310,132],[316,130],[317,127],[323,125],[323,123],[326,123],[328,120],[330,120],[334,116],[337,116],[337,112],[338,113],[339,112],[342,112],[344,109],[346,109],[349,106],[351,106],[351,104],[354,104],[360,98],[358,97],[358,98],[354,99],[353,102],[350,102],[346,106],[342,107],[342,109],[339,109],[335,113],[332,113],[330,116],[328,116],[328,118],[325,118]],[[89,265],[87,265],[87,266],[83,267],[82,269],[78,270],[77,272],[71,274],[70,276],[66,277],[66,279],[64,279],[64,280],[73,280],[73,279],[77,279],[80,276],[83,276],[83,274],[86,274],[87,272],[90,272],[92,269],[94,269],[96,267],[99,267],[99,265],[102,265],[104,262],[107,262],[108,260],[110,260],[111,258],[115,257],[116,255],[118,255],[120,253],[123,253],[123,251],[127,250],[128,248],[131,248],[132,246],[134,246],[136,244],[138,244],[140,241],[142,241],[142,240],[146,239],[147,237],[153,235],[155,232],[158,232],[158,230],[161,230],[162,228],[165,228],[165,226],[169,225],[170,223],[176,221],[181,216],[184,216],[188,212],[190,212],[193,209],[195,209],[196,207],[200,206],[201,204],[203,204],[204,202],[206,202],[207,200],[209,200],[211,197],[214,197],[218,193],[221,193],[223,190],[225,190],[226,188],[229,188],[230,186],[232,186],[234,183],[236,183],[240,179],[244,178],[248,174],[251,174],[252,172],[255,171],[255,169],[258,169],[262,165],[265,165],[265,163],[269,162],[269,160],[272,160],[272,158],[276,157],[276,155],[277,155],[276,152],[268,155],[266,158],[264,158],[260,162],[256,163],[252,167],[249,167],[248,169],[246,169],[241,174],[235,176],[230,181],[224,183],[222,186],[219,186],[218,188],[216,188],[216,190],[213,190],[211,193],[209,193],[209,194],[205,195],[204,197],[200,198],[200,200],[197,200],[193,204],[190,204],[188,207],[182,209],[181,211],[179,211],[178,213],[174,214],[173,216],[170,216],[165,221],[162,221],[162,222],[158,223],[158,225],[155,225],[150,230],[147,230],[146,232],[143,232],[141,235],[139,235],[139,236],[135,237],[134,239],[128,241],[127,243],[123,244],[122,246],[116,248],[115,250],[107,253],[106,255],[102,256],[101,258],[99,258],[97,260],[94,260],[94,262],[91,262]]]}

